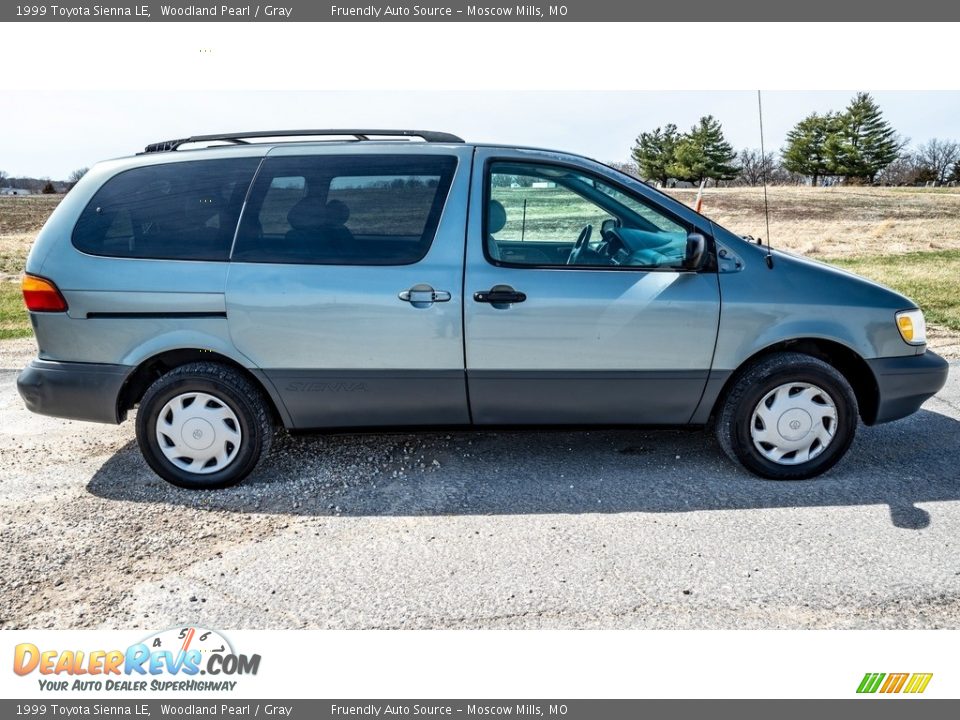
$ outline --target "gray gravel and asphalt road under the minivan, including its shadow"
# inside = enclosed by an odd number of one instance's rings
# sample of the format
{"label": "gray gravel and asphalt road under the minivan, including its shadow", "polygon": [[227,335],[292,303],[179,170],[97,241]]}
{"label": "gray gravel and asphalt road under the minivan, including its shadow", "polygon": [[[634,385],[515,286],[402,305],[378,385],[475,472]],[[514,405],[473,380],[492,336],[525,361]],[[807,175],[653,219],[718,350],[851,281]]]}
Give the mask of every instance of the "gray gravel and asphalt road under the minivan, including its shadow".
{"label": "gray gravel and asphalt road under the minivan, including its shadow", "polygon": [[960,367],[801,483],[697,431],[282,434],[178,490],[27,413],[0,343],[0,627],[958,628]]}

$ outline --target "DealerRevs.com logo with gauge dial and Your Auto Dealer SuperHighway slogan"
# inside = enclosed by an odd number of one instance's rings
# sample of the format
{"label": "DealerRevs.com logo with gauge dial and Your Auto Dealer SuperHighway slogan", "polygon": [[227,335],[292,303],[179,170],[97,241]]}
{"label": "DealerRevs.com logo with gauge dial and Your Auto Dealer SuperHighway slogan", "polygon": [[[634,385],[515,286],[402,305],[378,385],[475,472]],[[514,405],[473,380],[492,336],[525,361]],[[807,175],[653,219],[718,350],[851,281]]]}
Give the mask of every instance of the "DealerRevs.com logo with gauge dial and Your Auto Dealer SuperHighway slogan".
{"label": "DealerRevs.com logo with gauge dial and Your Auto Dealer SuperHighway slogan", "polygon": [[233,679],[256,675],[260,655],[234,651],[216,630],[170,628],[126,650],[51,650],[32,643],[14,648],[13,671],[37,674],[45,691],[232,691]]}

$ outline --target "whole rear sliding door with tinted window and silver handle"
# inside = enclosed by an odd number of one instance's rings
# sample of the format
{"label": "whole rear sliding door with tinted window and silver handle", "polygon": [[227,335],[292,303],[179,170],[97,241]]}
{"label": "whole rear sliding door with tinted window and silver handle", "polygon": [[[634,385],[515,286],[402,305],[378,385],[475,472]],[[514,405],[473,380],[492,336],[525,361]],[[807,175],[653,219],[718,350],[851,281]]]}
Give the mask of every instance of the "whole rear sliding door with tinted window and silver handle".
{"label": "whole rear sliding door with tinted window and silver handle", "polygon": [[467,423],[468,148],[277,148],[227,280],[236,347],[297,428]]}

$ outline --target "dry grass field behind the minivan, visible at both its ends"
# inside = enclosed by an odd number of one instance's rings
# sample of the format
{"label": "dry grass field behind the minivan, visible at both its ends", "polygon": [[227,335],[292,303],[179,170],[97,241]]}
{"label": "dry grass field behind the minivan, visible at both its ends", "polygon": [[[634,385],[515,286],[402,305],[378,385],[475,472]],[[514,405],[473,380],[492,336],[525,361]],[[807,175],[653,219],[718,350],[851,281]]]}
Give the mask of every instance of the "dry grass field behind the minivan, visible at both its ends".
{"label": "dry grass field behind the minivan, visible at both its ends", "polygon": [[[672,190],[692,204],[695,190]],[[914,298],[931,345],[960,357],[960,188],[769,189],[774,247],[835,263]],[[19,280],[36,233],[60,195],[0,197],[0,338],[30,334]],[[710,188],[703,212],[766,239],[761,188]]]}

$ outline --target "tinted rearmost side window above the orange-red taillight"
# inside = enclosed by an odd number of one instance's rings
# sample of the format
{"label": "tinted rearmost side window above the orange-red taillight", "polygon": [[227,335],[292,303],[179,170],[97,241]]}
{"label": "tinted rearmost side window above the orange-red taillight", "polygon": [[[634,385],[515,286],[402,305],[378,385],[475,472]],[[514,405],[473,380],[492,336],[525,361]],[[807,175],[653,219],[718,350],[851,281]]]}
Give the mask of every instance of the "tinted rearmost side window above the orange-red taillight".
{"label": "tinted rearmost side window above the orange-red taillight", "polygon": [[80,214],[73,244],[111,257],[226,260],[259,162],[202,160],[122,172]]}

